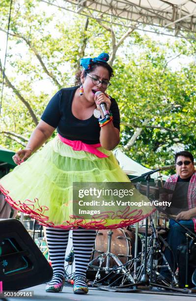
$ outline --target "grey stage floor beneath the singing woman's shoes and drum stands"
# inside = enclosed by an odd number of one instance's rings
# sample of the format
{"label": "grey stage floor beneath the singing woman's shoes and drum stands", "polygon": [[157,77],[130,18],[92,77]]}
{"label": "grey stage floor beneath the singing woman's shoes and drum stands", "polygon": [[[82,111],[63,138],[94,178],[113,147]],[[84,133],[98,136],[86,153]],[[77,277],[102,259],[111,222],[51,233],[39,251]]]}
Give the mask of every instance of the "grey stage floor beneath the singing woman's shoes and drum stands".
{"label": "grey stage floor beneath the singing woman's shoes and drum stands", "polygon": [[45,284],[40,284],[31,288],[28,288],[24,291],[34,291],[34,297],[31,298],[5,298],[1,300],[6,301],[19,301],[19,300],[64,300],[64,301],[180,301],[183,298],[183,301],[196,301],[196,294],[194,296],[180,294],[179,296],[172,296],[170,293],[165,293],[163,295],[160,292],[140,292],[140,293],[129,293],[129,292],[108,292],[101,291],[95,288],[89,288],[89,293],[87,295],[74,295],[73,289],[70,286],[63,287],[62,292],[60,293],[46,293]]}

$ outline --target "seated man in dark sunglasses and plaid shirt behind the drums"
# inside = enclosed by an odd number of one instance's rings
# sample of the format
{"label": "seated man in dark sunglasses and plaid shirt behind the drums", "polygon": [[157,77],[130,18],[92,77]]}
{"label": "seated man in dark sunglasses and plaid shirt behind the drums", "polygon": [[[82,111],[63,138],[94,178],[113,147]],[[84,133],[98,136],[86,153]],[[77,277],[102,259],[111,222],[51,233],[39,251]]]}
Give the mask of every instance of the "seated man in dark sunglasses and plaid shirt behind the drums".
{"label": "seated man in dark sunglasses and plaid shirt behind the drums", "polygon": [[[171,197],[171,206],[167,212],[176,215],[178,222],[196,232],[196,171],[194,166],[194,157],[189,151],[179,151],[175,154],[176,174],[168,178],[165,187],[174,190]],[[169,221],[168,244],[175,256],[175,265],[173,255],[169,248],[166,248],[165,257],[170,268],[174,272],[177,268],[176,249],[180,244],[186,243],[186,230],[178,225],[173,219]],[[171,274],[168,268],[161,269],[162,276],[171,280]],[[190,275],[191,276],[191,275]]]}

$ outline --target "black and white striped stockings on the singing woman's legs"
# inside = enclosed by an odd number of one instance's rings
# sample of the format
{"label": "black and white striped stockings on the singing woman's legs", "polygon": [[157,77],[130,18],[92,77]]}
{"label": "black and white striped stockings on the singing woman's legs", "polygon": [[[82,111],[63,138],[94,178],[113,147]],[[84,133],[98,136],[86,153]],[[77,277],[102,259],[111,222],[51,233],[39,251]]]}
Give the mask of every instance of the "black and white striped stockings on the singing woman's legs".
{"label": "black and white striped stockings on the singing woman's legs", "polygon": [[[96,231],[91,229],[73,230],[73,247],[75,256],[75,277],[85,278],[87,265],[94,246]],[[46,228],[46,238],[50,259],[53,267],[53,279],[50,284],[59,283],[61,280],[56,275],[64,276],[65,252],[69,238],[69,230],[60,228]]]}

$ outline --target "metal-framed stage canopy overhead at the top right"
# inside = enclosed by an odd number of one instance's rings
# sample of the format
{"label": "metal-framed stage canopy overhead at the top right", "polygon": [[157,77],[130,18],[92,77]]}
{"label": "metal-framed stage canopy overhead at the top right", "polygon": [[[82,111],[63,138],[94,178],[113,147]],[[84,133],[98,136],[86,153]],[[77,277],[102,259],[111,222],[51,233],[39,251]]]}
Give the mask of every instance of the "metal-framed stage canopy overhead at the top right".
{"label": "metal-framed stage canopy overhead at the top right", "polygon": [[[196,33],[196,0],[41,0],[127,28],[189,37]],[[192,34],[192,38],[196,38]]]}

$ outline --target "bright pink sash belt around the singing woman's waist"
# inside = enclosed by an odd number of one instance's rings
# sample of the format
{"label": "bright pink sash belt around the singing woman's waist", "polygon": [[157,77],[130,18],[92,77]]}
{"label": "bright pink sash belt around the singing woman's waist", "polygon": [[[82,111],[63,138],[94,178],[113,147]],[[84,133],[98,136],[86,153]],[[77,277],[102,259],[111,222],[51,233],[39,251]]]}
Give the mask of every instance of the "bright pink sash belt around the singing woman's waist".
{"label": "bright pink sash belt around the singing woman's waist", "polygon": [[93,153],[95,154],[98,158],[107,158],[108,156],[101,152],[101,151],[98,151],[97,148],[100,148],[101,147],[101,144],[100,143],[97,143],[97,144],[86,144],[80,140],[69,140],[69,139],[66,139],[62,136],[60,136],[58,134],[58,138],[65,144],[69,145],[70,147],[72,147],[72,149],[74,151],[87,151],[87,152],[90,152],[90,153]]}

